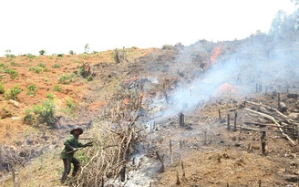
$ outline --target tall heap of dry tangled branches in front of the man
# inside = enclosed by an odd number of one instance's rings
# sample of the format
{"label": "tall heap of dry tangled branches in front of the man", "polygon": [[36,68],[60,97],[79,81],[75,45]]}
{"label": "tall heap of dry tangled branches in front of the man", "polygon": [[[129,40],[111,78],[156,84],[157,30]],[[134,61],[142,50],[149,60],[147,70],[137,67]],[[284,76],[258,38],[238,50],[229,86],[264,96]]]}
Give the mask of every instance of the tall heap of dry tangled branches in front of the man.
{"label": "tall heap of dry tangled branches in front of the man", "polygon": [[[128,96],[129,102],[124,103],[123,99]],[[88,130],[93,146],[76,152],[82,166],[77,177],[68,182],[70,186],[98,187],[116,180],[125,181],[129,172],[126,166],[134,149],[142,142],[146,129],[139,122],[142,97],[139,91],[123,91],[112,98]]]}

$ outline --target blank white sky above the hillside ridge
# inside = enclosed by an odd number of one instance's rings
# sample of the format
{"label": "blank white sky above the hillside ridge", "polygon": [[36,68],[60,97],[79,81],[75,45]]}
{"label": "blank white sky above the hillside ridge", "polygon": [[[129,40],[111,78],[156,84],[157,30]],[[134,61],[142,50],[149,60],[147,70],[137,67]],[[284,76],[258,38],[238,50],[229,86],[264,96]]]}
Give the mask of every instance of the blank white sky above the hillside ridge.
{"label": "blank white sky above the hillside ridge", "polygon": [[0,56],[162,47],[267,32],[290,0],[1,0]]}

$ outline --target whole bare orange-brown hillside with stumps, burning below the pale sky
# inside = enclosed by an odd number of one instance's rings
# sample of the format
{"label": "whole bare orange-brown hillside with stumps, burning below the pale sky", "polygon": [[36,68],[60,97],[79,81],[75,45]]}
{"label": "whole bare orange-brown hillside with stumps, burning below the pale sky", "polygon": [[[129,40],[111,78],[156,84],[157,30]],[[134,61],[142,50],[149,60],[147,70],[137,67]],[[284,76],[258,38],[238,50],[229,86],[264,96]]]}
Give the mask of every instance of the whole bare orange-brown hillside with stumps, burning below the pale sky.
{"label": "whole bare orange-brown hillside with stumps, burning below the pale sky", "polygon": [[[92,136],[98,121],[142,128],[123,139],[139,140],[119,164],[127,167],[126,179],[106,171],[94,186],[298,186],[299,69],[293,38],[257,35],[189,47],[124,48],[118,55],[2,58],[5,89],[19,84],[24,90],[16,99],[1,95],[3,186],[13,183],[13,160],[22,186],[59,185],[61,141],[75,124]],[[28,70],[41,62],[47,71]],[[18,77],[10,78],[8,68]],[[76,76],[69,84],[59,82],[70,73]],[[38,88],[36,95],[26,95],[30,84]],[[53,91],[56,85],[62,91]],[[24,108],[39,105],[48,92],[56,98],[53,123],[25,124]],[[88,179],[71,180],[70,186],[85,186],[80,180]]]}

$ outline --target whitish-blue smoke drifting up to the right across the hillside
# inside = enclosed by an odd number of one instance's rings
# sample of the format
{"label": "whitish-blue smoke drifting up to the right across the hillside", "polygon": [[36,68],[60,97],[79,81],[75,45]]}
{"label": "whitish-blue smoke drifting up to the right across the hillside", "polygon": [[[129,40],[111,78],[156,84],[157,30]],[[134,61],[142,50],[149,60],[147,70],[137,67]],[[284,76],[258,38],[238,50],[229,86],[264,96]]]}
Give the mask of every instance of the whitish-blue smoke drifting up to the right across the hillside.
{"label": "whitish-blue smoke drifting up to the right across the hillside", "polygon": [[[222,52],[212,68],[201,78],[195,78],[191,83],[184,83],[180,88],[168,93],[168,103],[163,97],[154,99],[151,107],[159,108],[154,116],[167,119],[180,112],[195,109],[201,106],[202,102],[217,99],[218,89],[222,84],[234,88],[233,92],[227,95],[239,98],[255,93],[257,86],[261,94],[266,88],[268,91],[277,92],[292,90],[299,81],[299,55],[294,50],[298,45],[295,41],[280,42],[269,41],[266,36],[238,43],[229,42],[227,46],[233,46],[233,50]],[[288,45],[292,47],[287,47]],[[179,68],[179,71],[185,71],[185,75],[191,75],[197,66],[191,57],[202,52],[202,45],[197,47],[198,49],[196,46],[185,47],[180,51],[175,60],[177,66],[173,68]],[[225,46],[222,50],[224,49]]]}

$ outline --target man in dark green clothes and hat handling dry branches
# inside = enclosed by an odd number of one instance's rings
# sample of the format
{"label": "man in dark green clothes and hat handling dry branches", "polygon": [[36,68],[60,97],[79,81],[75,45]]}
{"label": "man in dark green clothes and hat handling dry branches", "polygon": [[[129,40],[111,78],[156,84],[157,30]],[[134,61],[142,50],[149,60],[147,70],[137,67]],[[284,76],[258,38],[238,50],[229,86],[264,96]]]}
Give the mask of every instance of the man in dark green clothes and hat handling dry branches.
{"label": "man in dark green clothes and hat handling dry branches", "polygon": [[79,136],[83,133],[83,130],[81,128],[74,128],[73,130],[70,130],[70,134],[67,137],[67,140],[64,142],[65,149],[61,151],[60,158],[63,161],[64,164],[64,171],[62,173],[62,177],[60,182],[64,183],[67,179],[67,175],[70,172],[71,169],[71,163],[74,165],[74,171],[72,173],[73,176],[76,175],[79,167],[80,162],[77,161],[77,159],[74,157],[74,153],[78,151],[78,148],[85,148],[87,146],[92,146],[92,142],[88,142],[87,144],[80,143],[77,139]]}

